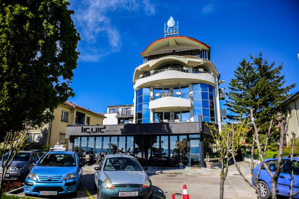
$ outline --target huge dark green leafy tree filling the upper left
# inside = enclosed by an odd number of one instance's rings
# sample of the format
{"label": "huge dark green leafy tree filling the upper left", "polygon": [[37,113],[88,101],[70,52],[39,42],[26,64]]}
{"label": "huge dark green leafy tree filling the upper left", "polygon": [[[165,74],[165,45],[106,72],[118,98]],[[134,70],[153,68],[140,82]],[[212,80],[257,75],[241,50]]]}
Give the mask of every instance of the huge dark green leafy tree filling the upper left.
{"label": "huge dark green leafy tree filling the upper left", "polygon": [[65,0],[1,1],[2,135],[42,127],[60,103],[74,96],[69,86],[80,36],[69,5]]}

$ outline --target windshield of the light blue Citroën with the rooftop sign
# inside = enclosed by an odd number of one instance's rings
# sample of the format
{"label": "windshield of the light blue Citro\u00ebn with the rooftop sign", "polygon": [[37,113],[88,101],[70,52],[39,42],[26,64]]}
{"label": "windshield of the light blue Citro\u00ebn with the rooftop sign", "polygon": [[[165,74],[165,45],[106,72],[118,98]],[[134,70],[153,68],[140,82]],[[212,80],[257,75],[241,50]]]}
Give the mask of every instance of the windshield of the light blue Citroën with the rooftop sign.
{"label": "windshield of the light blue Citro\u00ebn with the rooftop sign", "polygon": [[48,153],[36,164],[39,166],[76,166],[74,154]]}

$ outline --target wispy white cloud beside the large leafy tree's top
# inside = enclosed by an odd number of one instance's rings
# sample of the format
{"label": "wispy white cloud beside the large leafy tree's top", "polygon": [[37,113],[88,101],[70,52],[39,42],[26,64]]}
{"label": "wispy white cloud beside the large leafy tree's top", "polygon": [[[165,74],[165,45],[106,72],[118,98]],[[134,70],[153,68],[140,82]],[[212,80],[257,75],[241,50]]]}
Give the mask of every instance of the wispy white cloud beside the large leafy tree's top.
{"label": "wispy white cloud beside the large leafy tree's top", "polygon": [[[114,11],[117,14],[117,11],[122,10],[137,12],[143,9],[147,15],[155,14],[155,4],[149,0],[78,0],[71,2],[71,9],[75,10],[74,21],[78,27],[81,40],[86,42],[85,48],[88,48],[89,44],[96,44],[97,38],[105,37],[108,46],[103,46],[105,45],[103,43],[99,45],[105,55],[120,51],[122,46],[120,33],[117,27],[111,24],[107,12]],[[85,54],[81,53],[81,60],[82,58],[90,59],[93,56],[93,54]],[[103,54],[94,54],[96,59],[102,56]]]}

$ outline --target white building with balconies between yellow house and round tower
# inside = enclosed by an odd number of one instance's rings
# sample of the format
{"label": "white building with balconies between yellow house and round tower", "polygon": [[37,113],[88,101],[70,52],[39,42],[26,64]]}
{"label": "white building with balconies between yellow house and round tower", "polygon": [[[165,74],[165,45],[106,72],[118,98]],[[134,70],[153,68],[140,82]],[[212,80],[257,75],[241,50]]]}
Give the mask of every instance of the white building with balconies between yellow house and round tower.
{"label": "white building with balconies between yellow house and round tower", "polygon": [[134,119],[134,104],[108,106],[107,112],[100,113],[106,118],[103,124],[129,124]]}

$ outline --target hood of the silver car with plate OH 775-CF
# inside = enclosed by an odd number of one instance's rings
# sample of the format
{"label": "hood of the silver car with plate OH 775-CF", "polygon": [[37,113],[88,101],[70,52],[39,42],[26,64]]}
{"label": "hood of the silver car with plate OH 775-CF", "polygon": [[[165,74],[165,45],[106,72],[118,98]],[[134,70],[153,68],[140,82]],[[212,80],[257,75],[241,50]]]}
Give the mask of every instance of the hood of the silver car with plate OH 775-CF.
{"label": "hood of the silver car with plate OH 775-CF", "polygon": [[144,171],[104,171],[113,185],[115,184],[143,184]]}

